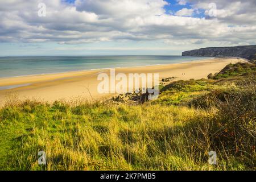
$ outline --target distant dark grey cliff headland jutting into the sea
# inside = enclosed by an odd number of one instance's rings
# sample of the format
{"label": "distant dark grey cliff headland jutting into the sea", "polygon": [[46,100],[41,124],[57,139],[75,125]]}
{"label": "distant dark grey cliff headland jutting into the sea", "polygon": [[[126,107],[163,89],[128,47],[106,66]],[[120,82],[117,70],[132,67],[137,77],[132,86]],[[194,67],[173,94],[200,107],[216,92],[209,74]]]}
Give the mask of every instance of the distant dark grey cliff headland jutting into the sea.
{"label": "distant dark grey cliff headland jutting into the sea", "polygon": [[183,56],[209,56],[209,57],[242,57],[249,60],[256,58],[256,45],[236,47],[208,47],[192,51],[185,51]]}

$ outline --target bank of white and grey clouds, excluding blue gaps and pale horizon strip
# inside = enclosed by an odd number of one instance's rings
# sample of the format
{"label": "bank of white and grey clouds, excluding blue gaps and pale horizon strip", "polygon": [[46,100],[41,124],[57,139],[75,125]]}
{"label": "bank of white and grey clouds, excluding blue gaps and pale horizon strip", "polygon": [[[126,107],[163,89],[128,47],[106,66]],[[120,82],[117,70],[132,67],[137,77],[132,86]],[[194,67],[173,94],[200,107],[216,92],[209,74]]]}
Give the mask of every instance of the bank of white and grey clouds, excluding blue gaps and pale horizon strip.
{"label": "bank of white and grey clouds, excluding blue gaps and pale horizon strip", "polygon": [[192,4],[175,15],[166,14],[163,0],[44,0],[47,16],[37,15],[41,1],[0,2],[0,42],[81,44],[123,40],[162,40],[172,44],[256,43],[256,2],[220,1],[216,18],[194,18],[209,11],[212,1]]}

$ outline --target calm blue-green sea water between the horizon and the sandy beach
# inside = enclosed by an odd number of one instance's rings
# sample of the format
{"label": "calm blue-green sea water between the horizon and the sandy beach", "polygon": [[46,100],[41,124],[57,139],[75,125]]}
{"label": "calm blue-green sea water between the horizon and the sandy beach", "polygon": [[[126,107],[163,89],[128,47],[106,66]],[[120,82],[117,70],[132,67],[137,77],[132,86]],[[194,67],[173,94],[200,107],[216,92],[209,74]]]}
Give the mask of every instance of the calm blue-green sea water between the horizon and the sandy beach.
{"label": "calm blue-green sea water between the horizon and the sandy beach", "polygon": [[41,75],[101,68],[181,63],[205,57],[187,56],[36,56],[0,57],[0,77]]}

